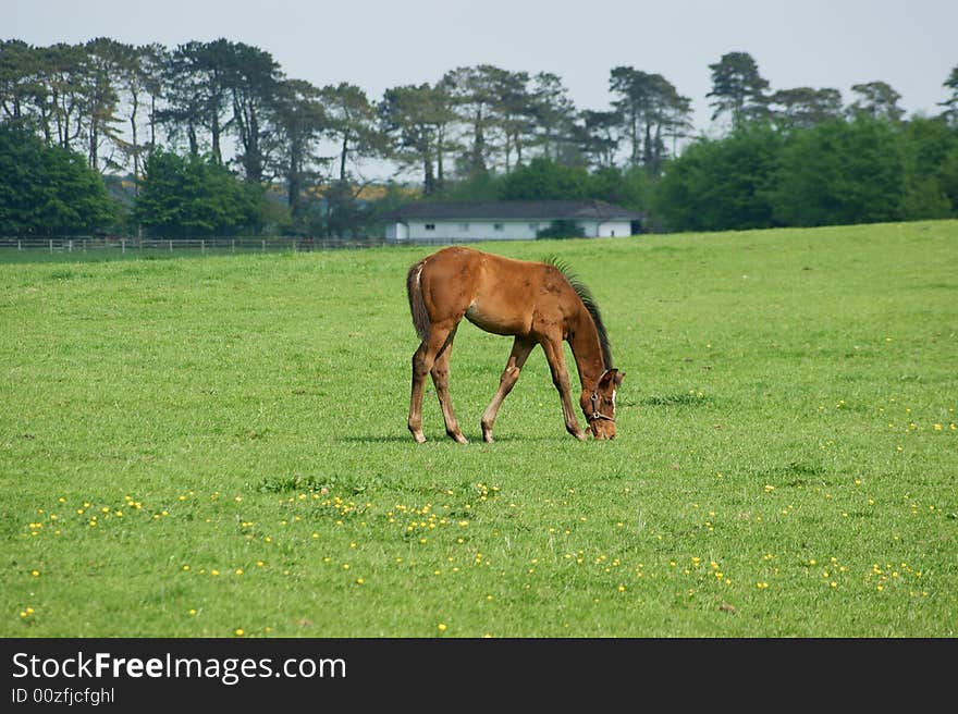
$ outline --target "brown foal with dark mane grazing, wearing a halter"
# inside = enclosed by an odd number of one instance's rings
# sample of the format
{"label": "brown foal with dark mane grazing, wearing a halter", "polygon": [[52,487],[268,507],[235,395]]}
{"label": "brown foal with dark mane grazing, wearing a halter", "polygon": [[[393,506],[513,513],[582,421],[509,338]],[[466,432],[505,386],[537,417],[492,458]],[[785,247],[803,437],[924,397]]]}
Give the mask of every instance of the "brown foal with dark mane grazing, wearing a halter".
{"label": "brown foal with dark mane grazing, wearing a halter", "polygon": [[408,422],[418,443],[426,441],[422,386],[427,374],[432,376],[446,433],[467,443],[449,393],[453,338],[464,317],[487,332],[515,337],[499,391],[482,415],[487,442],[492,442],[499,407],[537,344],[549,360],[566,430],[576,439],[586,439],[573,411],[563,340],[575,356],[582,387],[579,406],[592,435],[615,438],[615,390],[625,373],[612,367],[605,327],[591,294],[561,263],[513,260],[458,246],[443,248],[409,269],[406,292],[413,324],[422,341],[413,355]]}

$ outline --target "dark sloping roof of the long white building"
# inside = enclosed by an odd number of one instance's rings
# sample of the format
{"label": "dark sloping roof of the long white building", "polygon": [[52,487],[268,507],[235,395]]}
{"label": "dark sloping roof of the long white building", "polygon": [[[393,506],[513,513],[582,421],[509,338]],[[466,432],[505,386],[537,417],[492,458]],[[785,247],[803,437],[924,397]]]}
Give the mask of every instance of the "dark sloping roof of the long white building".
{"label": "dark sloping roof of the long white building", "polygon": [[395,221],[467,219],[637,221],[642,214],[600,200],[417,201],[401,206],[383,218]]}

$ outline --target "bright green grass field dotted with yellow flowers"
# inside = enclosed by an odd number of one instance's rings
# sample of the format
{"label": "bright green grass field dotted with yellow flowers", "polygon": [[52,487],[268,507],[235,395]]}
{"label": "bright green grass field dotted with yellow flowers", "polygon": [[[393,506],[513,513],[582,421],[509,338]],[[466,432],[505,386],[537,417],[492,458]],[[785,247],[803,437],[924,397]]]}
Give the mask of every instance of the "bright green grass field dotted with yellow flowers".
{"label": "bright green grass field dotted with yellow flowers", "polygon": [[0,264],[0,635],[955,637],[958,222],[484,247],[592,288],[614,442],[537,349],[481,443],[469,324],[413,442],[428,248]]}

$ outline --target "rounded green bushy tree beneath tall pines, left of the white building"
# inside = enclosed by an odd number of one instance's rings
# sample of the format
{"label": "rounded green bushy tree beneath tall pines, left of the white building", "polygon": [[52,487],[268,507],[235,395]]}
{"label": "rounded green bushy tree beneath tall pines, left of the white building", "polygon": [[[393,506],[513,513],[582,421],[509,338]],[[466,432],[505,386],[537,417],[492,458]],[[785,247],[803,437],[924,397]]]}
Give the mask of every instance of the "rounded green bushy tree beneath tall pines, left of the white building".
{"label": "rounded green bushy tree beneath tall pines, left of the white building", "polygon": [[157,149],[146,160],[134,214],[163,237],[235,235],[259,221],[262,190],[238,181],[211,155]]}

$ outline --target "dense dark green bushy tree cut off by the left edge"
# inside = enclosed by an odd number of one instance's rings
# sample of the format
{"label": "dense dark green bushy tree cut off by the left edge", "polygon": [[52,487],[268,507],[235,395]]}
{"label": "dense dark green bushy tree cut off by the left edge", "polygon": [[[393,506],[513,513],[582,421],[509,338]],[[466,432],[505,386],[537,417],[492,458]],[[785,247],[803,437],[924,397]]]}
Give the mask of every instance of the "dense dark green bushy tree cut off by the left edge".
{"label": "dense dark green bushy tree cut off by the left edge", "polygon": [[107,227],[116,206],[85,159],[33,127],[0,123],[0,234],[75,235]]}

